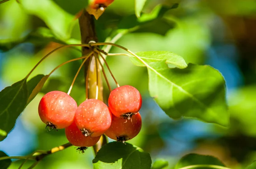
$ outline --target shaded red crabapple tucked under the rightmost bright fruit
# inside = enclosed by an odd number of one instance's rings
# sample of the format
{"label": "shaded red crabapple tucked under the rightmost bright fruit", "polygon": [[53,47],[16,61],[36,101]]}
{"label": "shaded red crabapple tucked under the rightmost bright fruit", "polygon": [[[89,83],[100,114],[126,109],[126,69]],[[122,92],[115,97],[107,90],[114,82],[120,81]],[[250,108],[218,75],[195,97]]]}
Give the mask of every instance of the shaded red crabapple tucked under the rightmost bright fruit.
{"label": "shaded red crabapple tucked under the rightmost bright fruit", "polygon": [[111,126],[105,132],[105,135],[117,141],[120,141],[118,138],[124,137],[125,141],[127,141],[139,134],[141,126],[142,121],[139,112],[133,115],[131,120],[125,120],[113,115]]}

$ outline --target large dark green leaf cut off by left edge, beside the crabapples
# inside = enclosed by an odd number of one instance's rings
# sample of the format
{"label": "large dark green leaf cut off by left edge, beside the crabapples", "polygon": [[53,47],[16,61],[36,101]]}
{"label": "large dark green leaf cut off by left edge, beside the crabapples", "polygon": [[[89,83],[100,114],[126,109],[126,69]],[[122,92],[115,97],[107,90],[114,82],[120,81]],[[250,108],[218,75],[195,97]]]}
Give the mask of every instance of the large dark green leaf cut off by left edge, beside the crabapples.
{"label": "large dark green leaf cut off by left edge, beside the crabapples", "polygon": [[0,141],[14,127],[16,119],[26,107],[27,99],[26,79],[22,79],[0,92]]}

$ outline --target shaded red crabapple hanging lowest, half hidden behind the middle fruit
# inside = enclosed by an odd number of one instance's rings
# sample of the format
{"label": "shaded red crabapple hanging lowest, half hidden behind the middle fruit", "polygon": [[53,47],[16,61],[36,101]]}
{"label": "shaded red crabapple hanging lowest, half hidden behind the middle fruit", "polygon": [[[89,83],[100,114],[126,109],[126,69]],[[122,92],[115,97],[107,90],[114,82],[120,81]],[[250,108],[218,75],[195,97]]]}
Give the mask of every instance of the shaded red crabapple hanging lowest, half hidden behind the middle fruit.
{"label": "shaded red crabapple hanging lowest, half hidden behind the middle fruit", "polygon": [[74,146],[88,147],[95,145],[101,136],[99,137],[85,137],[81,130],[76,126],[75,121],[67,128],[65,128],[65,134],[67,140]]}

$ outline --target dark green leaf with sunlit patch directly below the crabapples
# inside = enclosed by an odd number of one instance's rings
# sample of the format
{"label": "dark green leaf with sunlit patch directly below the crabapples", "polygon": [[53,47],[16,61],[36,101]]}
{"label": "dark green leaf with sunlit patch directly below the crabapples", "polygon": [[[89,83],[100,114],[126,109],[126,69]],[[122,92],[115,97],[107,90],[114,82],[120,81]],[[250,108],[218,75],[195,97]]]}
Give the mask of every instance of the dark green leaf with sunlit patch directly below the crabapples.
{"label": "dark green leaf with sunlit patch directly below the crabapples", "polygon": [[151,157],[132,144],[105,144],[93,159],[94,169],[150,169]]}

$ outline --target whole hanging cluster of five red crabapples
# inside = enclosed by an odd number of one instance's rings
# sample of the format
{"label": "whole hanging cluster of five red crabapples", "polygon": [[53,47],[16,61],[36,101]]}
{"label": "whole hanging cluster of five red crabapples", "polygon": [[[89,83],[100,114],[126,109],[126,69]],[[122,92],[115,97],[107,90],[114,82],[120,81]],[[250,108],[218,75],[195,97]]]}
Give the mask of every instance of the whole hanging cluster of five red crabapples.
{"label": "whole hanging cluster of five red crabapples", "polygon": [[112,90],[108,106],[98,99],[77,106],[67,93],[51,91],[41,99],[38,113],[49,129],[65,129],[67,140],[83,150],[103,134],[123,143],[134,138],[142,125],[141,104],[140,92],[130,85]]}

